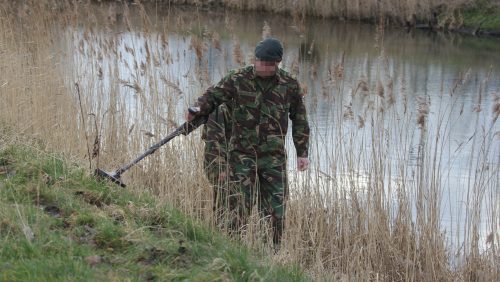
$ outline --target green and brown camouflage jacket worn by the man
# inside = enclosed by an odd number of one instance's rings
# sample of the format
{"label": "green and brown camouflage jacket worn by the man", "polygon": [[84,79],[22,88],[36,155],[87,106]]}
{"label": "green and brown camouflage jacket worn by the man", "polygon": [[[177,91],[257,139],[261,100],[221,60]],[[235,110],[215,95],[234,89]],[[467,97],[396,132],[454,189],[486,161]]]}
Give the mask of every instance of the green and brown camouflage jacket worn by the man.
{"label": "green and brown camouflage jacket worn by the man", "polygon": [[279,69],[263,89],[254,67],[231,71],[198,98],[200,114],[226,104],[231,117],[229,150],[253,155],[284,155],[288,118],[298,157],[307,157],[309,124],[304,93],[296,79]]}

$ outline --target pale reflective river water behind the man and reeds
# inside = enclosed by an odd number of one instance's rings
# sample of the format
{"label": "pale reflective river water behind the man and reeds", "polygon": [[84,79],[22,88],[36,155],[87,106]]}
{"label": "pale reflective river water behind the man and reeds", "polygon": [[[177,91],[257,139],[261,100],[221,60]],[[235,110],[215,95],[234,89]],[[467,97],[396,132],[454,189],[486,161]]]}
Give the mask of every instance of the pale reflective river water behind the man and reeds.
{"label": "pale reflective river water behind the man and reeds", "polygon": [[[372,25],[321,19],[298,24],[272,14],[146,8],[147,33],[144,26],[139,27],[145,21],[134,6],[130,30],[118,21],[112,27],[99,24],[86,39],[84,27],[68,28],[65,33],[68,46],[81,47],[81,52],[73,53],[70,72],[88,89],[109,89],[126,97],[123,108],[130,124],[147,128],[148,122],[167,116],[182,122],[184,109],[195,97],[240,65],[233,55],[236,46],[242,53],[239,59],[251,61],[266,23],[284,43],[282,67],[296,74],[308,89],[311,169],[295,171],[294,148],[288,140],[288,169],[295,185],[312,181],[323,190],[338,189],[348,187],[347,179],[354,176],[357,189],[369,189],[373,158],[385,160],[382,179],[392,189],[403,176],[411,179],[407,189],[416,189],[419,178],[415,175],[424,168],[425,177],[431,180],[423,183],[432,186],[431,173],[437,169],[439,183],[434,184],[443,199],[441,227],[450,236],[450,244],[456,247],[464,239],[450,234],[461,234],[464,221],[470,219],[465,211],[472,211],[474,204],[482,205],[484,246],[486,236],[498,230],[495,215],[486,213],[499,208],[500,126],[492,122],[492,108],[493,94],[500,90],[500,40],[397,28],[377,32]],[[123,17],[120,8],[113,15],[119,20]],[[167,36],[162,37],[165,30]],[[220,40],[212,41],[214,33]],[[200,58],[193,38],[201,42]],[[112,107],[113,101],[105,94],[92,91],[101,99],[98,111]],[[394,103],[389,101],[391,93]],[[176,99],[145,118],[149,106],[158,101],[156,96]],[[424,104],[428,105],[426,130],[417,123]],[[484,180],[473,176],[485,166],[489,167],[484,172],[487,182],[474,185],[474,179]],[[403,174],[400,167],[404,167]],[[484,189],[476,202],[468,198],[473,187]],[[416,191],[410,193],[417,197]],[[395,196],[389,193],[387,197],[393,201]]]}

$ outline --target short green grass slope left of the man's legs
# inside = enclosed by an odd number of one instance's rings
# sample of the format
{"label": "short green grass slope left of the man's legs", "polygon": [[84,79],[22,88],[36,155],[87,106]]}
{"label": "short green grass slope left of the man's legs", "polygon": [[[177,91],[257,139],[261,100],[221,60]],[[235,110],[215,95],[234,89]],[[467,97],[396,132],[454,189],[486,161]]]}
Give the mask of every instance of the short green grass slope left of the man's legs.
{"label": "short green grass slope left of the man's legs", "polygon": [[303,281],[143,193],[0,147],[2,281]]}

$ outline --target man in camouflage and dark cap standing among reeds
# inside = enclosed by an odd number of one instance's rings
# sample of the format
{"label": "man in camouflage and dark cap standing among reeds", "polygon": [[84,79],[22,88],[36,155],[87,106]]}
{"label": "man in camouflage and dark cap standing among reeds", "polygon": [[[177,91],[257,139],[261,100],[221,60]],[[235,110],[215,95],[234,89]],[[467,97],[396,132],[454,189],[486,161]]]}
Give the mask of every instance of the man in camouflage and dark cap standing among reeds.
{"label": "man in camouflage and dark cap standing among reeds", "polygon": [[[231,209],[245,223],[251,208],[270,218],[273,239],[283,231],[286,179],[285,136],[288,119],[297,151],[297,169],[307,169],[309,125],[304,93],[296,79],[278,67],[283,56],[281,42],[265,39],[255,47],[255,64],[233,70],[198,98],[196,115],[208,115],[225,104],[230,113],[229,177],[236,194]],[[187,119],[195,114],[188,112]]]}

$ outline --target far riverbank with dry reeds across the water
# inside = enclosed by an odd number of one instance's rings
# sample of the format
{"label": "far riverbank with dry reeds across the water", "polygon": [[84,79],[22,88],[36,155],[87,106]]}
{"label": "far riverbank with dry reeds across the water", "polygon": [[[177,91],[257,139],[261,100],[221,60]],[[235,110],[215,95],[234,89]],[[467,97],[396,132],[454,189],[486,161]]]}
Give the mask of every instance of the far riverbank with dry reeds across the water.
{"label": "far riverbank with dry reeds across the water", "polygon": [[291,15],[293,21],[305,16],[338,20],[382,22],[407,28],[453,31],[472,35],[500,37],[500,2],[496,1],[243,1],[173,0],[170,4],[201,8],[230,8],[240,11],[265,11]]}

